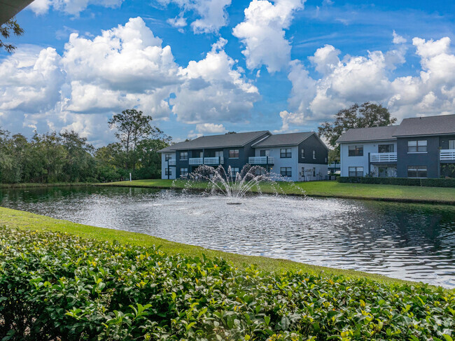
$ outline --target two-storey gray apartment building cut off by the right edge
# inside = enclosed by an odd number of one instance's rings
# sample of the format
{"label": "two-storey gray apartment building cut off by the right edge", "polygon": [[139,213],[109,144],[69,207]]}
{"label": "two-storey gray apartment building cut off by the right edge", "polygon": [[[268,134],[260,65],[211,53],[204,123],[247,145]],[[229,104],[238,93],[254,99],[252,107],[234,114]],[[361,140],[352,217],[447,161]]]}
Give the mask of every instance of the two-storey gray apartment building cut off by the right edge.
{"label": "two-storey gray apartment building cut off by the right edge", "polygon": [[438,178],[455,163],[455,115],[350,129],[337,142],[341,176]]}

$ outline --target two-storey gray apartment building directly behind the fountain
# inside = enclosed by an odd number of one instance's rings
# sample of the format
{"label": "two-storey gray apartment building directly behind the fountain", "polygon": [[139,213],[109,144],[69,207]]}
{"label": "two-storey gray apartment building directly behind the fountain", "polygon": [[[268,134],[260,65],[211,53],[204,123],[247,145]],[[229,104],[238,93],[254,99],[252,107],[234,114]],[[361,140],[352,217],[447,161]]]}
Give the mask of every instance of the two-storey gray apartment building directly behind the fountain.
{"label": "two-storey gray apartment building directly behind the fountain", "polygon": [[235,176],[244,165],[259,165],[293,181],[323,180],[328,148],[315,132],[272,134],[267,130],[198,137],[160,151],[162,179],[179,179],[200,165],[231,167]]}

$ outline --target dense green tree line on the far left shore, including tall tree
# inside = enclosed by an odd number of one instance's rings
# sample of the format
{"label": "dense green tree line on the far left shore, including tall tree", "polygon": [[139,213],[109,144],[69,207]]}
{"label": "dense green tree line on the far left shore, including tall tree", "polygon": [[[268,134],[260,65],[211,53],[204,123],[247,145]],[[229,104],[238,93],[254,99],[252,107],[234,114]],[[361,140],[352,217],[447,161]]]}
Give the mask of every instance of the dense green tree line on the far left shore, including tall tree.
{"label": "dense green tree line on the far left shore, including tall tree", "polygon": [[46,132],[27,139],[0,130],[1,183],[108,182],[161,176],[158,151],[171,141],[135,109],[109,120],[118,141],[94,148],[78,132]]}

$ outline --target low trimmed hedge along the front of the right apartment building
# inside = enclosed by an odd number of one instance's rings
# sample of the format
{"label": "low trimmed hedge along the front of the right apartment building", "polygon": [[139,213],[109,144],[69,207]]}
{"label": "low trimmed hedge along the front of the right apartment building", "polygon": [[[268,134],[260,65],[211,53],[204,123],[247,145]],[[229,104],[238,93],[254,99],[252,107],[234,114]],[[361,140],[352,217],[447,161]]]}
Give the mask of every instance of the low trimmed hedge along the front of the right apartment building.
{"label": "low trimmed hedge along the front of the right apartment building", "polygon": [[412,178],[374,178],[340,176],[337,181],[341,183],[372,183],[377,185],[400,185],[400,186],[428,186],[428,187],[453,187],[455,179],[412,179]]}

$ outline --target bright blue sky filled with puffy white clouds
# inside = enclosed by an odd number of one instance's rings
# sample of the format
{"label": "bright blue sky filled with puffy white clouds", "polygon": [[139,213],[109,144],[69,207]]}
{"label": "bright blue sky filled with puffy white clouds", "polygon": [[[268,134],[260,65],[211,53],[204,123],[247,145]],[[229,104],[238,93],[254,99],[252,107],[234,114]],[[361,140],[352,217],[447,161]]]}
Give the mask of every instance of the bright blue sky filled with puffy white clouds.
{"label": "bright blue sky filled with puffy white clouds", "polygon": [[353,103],[455,113],[452,0],[36,0],[0,53],[0,128],[115,140],[137,109],[174,141],[317,131]]}

